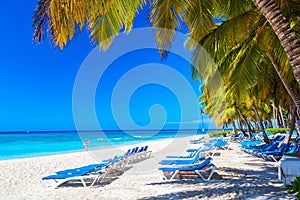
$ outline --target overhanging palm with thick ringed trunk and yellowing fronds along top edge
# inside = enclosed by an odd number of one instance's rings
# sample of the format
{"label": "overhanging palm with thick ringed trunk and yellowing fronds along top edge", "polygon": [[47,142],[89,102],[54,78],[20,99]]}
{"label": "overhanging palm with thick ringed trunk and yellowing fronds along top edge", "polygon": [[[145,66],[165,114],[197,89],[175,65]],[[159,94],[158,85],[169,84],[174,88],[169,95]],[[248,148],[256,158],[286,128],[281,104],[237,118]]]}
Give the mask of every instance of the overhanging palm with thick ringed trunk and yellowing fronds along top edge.
{"label": "overhanging palm with thick ringed trunk and yellowing fronds along top edge", "polygon": [[[131,30],[136,13],[145,3],[145,0],[40,0],[33,17],[34,39],[41,40],[46,26],[54,45],[63,48],[87,23],[92,40],[107,49],[122,29]],[[300,12],[299,0],[152,0],[150,21],[154,27],[163,28],[156,32],[161,55],[171,47],[174,30],[180,28],[179,19],[185,22],[192,38],[200,40],[214,26],[212,15],[232,18],[252,9],[253,3],[271,24],[300,83],[300,43],[287,21],[299,22],[295,17]]]}

